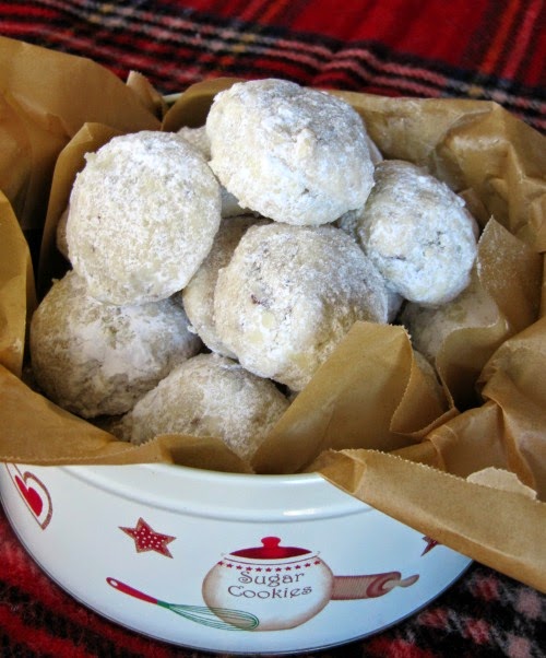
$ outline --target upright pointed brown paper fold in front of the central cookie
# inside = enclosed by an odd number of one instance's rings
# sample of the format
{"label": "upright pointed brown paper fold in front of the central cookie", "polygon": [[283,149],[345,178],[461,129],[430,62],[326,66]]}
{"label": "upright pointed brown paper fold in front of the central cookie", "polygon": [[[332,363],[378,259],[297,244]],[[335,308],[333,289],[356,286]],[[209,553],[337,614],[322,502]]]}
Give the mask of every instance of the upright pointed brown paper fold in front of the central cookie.
{"label": "upright pointed brown paper fold in front of the central cookie", "polygon": [[453,413],[416,367],[403,327],[357,322],[277,422],[253,467],[294,473],[325,449],[394,450]]}

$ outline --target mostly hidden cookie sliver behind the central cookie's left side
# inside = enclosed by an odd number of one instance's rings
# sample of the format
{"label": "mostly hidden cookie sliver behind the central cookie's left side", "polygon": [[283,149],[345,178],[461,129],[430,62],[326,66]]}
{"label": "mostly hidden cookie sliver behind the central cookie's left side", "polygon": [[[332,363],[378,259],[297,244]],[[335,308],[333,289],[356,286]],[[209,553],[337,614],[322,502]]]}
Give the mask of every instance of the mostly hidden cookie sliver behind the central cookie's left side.
{"label": "mostly hidden cookie sliver behind the central cookie's left side", "polygon": [[224,345],[216,332],[214,290],[218,270],[229,262],[235,247],[247,228],[252,224],[264,222],[268,220],[259,220],[253,215],[223,220],[209,256],[181,292],[183,307],[192,329],[210,350],[225,356],[235,359],[235,354]]}

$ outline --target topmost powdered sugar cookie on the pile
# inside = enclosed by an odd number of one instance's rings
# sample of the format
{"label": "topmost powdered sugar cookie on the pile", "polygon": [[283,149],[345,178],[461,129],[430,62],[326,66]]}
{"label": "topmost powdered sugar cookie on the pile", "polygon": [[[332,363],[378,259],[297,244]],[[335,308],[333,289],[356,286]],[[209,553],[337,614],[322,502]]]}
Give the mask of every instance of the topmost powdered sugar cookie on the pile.
{"label": "topmost powdered sugar cookie on the pile", "polygon": [[286,80],[239,82],[206,118],[210,165],[239,203],[288,224],[333,222],[364,205],[373,185],[358,114]]}

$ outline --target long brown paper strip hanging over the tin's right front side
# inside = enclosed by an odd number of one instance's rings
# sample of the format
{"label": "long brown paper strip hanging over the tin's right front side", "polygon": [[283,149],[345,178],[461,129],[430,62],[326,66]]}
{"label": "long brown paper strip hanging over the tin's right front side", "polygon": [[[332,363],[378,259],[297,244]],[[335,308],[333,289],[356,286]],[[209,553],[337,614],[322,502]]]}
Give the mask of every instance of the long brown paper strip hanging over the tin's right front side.
{"label": "long brown paper strip hanging over the tin's right front side", "polygon": [[439,543],[545,591],[544,503],[373,450],[328,453],[313,469]]}

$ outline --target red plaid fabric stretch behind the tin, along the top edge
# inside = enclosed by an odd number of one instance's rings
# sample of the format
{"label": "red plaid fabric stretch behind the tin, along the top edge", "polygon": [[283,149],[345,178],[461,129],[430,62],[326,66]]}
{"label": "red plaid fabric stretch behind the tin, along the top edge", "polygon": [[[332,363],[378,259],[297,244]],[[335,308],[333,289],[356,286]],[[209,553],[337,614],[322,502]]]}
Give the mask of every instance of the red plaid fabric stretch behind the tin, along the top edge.
{"label": "red plaid fabric stretch behind the tin, along the top edge", "polygon": [[0,34],[163,93],[217,75],[492,99],[546,130],[544,0],[0,2]]}

